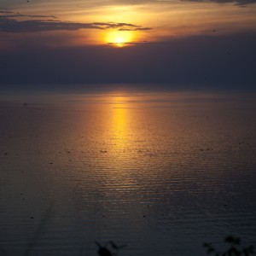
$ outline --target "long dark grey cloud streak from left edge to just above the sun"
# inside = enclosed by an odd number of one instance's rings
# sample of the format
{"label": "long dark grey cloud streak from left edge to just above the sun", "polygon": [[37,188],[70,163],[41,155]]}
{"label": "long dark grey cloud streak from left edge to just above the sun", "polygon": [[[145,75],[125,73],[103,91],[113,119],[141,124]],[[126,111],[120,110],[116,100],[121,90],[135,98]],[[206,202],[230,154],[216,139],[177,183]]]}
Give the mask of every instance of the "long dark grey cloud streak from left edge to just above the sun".
{"label": "long dark grey cloud streak from left edge to just above the sun", "polygon": [[130,23],[116,22],[92,22],[79,23],[61,20],[17,20],[20,17],[27,18],[53,18],[49,15],[20,15],[6,10],[0,11],[0,32],[49,32],[49,31],[78,31],[80,29],[110,29],[119,28],[127,31],[148,30],[148,27],[137,26]]}

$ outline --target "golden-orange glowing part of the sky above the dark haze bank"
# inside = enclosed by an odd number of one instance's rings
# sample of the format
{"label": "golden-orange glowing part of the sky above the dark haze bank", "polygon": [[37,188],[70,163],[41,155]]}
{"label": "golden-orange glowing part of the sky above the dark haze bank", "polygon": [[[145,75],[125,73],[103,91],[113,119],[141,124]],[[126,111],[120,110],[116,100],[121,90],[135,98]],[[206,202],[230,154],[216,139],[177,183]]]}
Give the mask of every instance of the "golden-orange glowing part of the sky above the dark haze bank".
{"label": "golden-orange glowing part of the sky above the dark haze bank", "polygon": [[247,2],[1,0],[0,11],[0,46],[36,42],[122,47],[256,31],[256,3]]}

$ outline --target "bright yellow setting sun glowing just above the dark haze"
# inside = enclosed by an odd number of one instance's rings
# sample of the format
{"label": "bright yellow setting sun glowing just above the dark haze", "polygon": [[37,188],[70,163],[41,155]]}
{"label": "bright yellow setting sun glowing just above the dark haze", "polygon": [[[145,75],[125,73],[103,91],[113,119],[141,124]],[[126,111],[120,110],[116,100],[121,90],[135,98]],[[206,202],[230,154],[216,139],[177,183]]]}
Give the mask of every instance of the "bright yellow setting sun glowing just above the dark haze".
{"label": "bright yellow setting sun glowing just above the dark haze", "polygon": [[124,47],[134,41],[135,32],[133,31],[110,31],[105,34],[104,42],[115,47]]}

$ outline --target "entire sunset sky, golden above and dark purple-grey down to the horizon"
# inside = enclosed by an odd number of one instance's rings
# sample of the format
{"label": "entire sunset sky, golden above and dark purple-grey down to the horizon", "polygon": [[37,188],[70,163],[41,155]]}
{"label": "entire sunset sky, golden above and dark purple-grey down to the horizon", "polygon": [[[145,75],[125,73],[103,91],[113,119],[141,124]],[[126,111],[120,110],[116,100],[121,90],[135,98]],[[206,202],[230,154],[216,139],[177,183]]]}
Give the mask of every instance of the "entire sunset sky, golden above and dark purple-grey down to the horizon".
{"label": "entire sunset sky, golden above and dark purple-grey down to the horizon", "polygon": [[256,88],[256,0],[0,0],[0,88]]}

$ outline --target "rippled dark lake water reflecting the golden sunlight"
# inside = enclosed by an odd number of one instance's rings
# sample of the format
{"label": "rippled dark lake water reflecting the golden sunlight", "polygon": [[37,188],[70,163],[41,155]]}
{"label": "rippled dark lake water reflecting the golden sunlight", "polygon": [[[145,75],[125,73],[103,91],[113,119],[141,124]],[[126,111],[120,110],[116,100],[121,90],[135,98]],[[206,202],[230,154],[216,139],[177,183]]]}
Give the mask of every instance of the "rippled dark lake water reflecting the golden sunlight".
{"label": "rippled dark lake water reflecting the golden sunlight", "polygon": [[255,246],[255,113],[255,94],[230,92],[2,96],[0,254]]}

